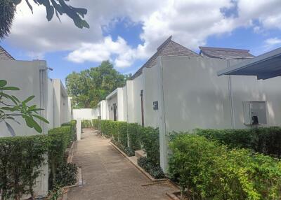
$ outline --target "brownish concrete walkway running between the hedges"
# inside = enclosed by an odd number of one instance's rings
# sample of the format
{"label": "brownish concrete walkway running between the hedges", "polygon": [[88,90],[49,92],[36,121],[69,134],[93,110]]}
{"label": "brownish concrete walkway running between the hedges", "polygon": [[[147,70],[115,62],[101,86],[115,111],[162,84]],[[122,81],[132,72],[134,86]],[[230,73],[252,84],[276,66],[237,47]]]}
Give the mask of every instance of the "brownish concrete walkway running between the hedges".
{"label": "brownish concrete walkway running between the hedges", "polygon": [[110,145],[108,139],[84,129],[75,147],[73,162],[82,167],[83,186],[70,189],[68,200],[88,199],[168,199],[174,191],[167,183],[151,183],[126,158]]}

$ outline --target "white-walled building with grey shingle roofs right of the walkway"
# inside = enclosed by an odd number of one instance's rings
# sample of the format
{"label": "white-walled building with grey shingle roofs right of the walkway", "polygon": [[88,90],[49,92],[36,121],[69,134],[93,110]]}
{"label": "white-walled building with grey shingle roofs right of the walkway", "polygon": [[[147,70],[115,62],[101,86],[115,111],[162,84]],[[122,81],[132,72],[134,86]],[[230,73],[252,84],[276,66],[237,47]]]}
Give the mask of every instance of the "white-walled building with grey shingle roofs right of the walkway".
{"label": "white-walled building with grey shingle roofs right of the walkway", "polygon": [[200,49],[197,55],[169,38],[133,75],[133,80],[105,99],[103,119],[159,127],[164,170],[166,136],[171,131],[244,129],[251,127],[254,116],[258,126],[281,125],[281,78],[218,77],[217,71],[254,56],[249,50]]}

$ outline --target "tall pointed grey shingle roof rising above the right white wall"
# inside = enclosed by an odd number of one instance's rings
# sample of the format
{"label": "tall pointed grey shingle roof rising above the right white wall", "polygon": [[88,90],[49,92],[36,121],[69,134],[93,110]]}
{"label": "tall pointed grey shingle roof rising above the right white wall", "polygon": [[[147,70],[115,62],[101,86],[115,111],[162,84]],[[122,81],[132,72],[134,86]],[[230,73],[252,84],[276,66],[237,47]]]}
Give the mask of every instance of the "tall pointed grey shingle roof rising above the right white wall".
{"label": "tall pointed grey shingle roof rising above the right white wall", "polygon": [[185,48],[184,46],[174,42],[171,40],[171,36],[162,43],[162,45],[159,45],[159,48],[157,48],[157,52],[155,52],[150,59],[148,59],[143,66],[141,66],[136,73],[133,74],[132,79],[137,78],[141,75],[143,68],[147,67],[150,68],[152,66],[155,66],[157,63],[157,57],[159,56],[200,56],[196,52],[193,52],[192,50],[189,50],[188,48]]}

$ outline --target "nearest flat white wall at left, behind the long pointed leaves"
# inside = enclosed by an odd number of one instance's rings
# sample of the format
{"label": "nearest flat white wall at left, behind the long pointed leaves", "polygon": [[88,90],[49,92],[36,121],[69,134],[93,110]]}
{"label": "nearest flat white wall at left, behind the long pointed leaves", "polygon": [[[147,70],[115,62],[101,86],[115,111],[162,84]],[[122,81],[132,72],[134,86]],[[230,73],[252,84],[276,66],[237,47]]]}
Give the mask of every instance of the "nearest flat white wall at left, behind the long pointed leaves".
{"label": "nearest flat white wall at left, behind the long pointed leaves", "polygon": [[[23,101],[32,95],[35,96],[28,105],[36,104],[38,108],[44,108],[40,112],[42,117],[48,118],[48,78],[45,61],[11,61],[0,60],[0,79],[7,80],[9,86],[19,87],[20,91],[9,91],[8,94],[13,94],[18,99]],[[15,130],[16,136],[31,136],[38,134],[34,129],[30,129],[25,124],[25,121],[20,117],[16,117],[20,124],[9,122]],[[37,121],[39,122],[39,121]],[[47,134],[48,124],[39,122],[43,129],[43,134]],[[0,137],[11,136],[6,129],[6,126],[0,124]],[[42,173],[37,178],[35,194],[48,194],[48,164],[41,166]]]}

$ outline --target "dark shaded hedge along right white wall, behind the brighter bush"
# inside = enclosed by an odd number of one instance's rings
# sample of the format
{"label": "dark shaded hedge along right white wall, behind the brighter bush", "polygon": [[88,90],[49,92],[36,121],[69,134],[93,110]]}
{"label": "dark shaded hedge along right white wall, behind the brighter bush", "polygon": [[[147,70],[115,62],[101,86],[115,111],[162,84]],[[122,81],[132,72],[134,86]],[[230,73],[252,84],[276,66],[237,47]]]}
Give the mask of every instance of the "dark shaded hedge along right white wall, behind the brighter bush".
{"label": "dark shaded hedge along right white wall, behind the brighter bush", "polygon": [[195,129],[195,133],[230,148],[249,148],[265,155],[281,157],[281,127],[256,129]]}

